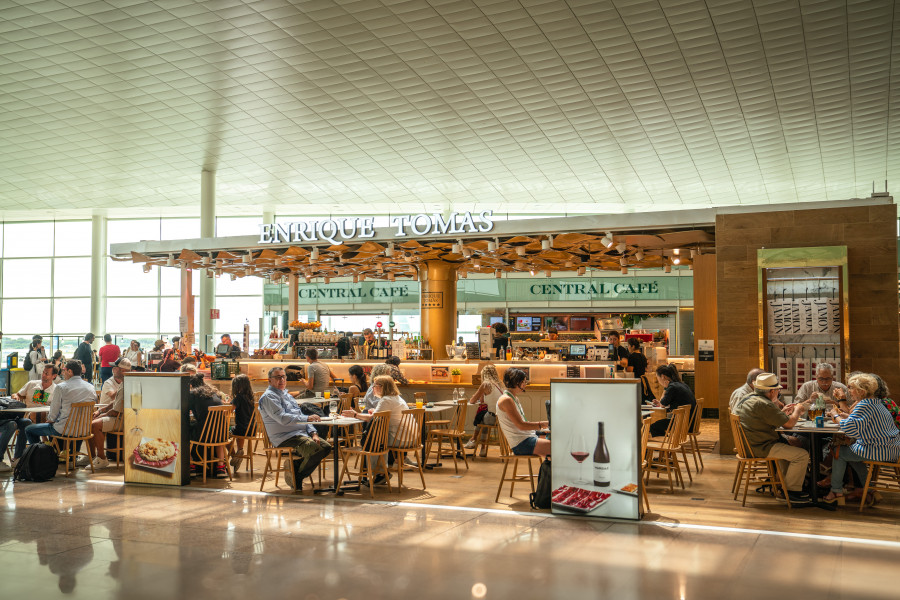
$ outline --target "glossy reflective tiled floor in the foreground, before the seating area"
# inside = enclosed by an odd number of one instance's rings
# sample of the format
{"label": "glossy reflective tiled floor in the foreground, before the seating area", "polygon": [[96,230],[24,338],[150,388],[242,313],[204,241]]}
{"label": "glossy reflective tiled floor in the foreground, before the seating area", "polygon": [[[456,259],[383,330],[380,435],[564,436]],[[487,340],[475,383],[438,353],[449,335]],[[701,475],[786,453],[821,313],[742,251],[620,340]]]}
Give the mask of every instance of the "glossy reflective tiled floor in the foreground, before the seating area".
{"label": "glossy reflective tiled floor in the foreground, before the seating area", "polygon": [[892,541],[64,478],[0,492],[4,598],[897,594]]}

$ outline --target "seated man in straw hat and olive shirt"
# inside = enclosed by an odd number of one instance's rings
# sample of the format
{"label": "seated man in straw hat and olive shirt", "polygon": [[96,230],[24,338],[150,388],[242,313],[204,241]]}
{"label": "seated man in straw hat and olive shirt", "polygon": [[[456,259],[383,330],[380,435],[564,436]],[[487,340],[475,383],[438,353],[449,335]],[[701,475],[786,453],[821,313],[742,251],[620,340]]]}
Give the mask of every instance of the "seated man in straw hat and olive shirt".
{"label": "seated man in straw hat and olive shirt", "polygon": [[779,427],[794,427],[800,415],[808,408],[808,403],[794,404],[785,407],[784,411],[779,410],[775,402],[781,395],[781,390],[774,373],[760,373],[753,382],[753,393],[738,403],[735,414],[741,420],[741,427],[753,456],[787,461],[784,483],[788,489],[788,497],[792,502],[808,502],[809,495],[803,491],[803,479],[809,464],[809,453],[803,448],[782,443],[777,431]]}

